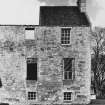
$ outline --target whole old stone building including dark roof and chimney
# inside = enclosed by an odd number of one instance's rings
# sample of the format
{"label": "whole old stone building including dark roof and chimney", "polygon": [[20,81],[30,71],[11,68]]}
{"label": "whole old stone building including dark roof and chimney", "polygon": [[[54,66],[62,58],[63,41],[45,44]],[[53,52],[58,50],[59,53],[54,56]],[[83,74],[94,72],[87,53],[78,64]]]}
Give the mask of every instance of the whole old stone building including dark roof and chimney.
{"label": "whole old stone building including dark roof and chimney", "polygon": [[85,0],[40,7],[38,26],[0,25],[0,102],[89,103],[90,35]]}

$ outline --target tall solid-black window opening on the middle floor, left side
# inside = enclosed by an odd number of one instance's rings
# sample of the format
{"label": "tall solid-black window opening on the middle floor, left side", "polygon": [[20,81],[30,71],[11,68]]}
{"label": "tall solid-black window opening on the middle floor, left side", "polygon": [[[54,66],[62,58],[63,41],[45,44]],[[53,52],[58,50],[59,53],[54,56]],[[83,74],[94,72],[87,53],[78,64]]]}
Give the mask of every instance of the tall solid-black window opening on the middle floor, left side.
{"label": "tall solid-black window opening on the middle floor, left side", "polygon": [[37,80],[37,58],[27,58],[27,80]]}

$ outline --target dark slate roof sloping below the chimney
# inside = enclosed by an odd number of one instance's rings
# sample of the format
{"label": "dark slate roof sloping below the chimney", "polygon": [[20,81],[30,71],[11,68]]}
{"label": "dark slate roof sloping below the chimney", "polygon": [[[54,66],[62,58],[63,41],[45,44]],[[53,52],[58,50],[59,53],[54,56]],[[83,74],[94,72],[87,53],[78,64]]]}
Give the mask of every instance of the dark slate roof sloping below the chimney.
{"label": "dark slate roof sloping below the chimney", "polygon": [[41,6],[39,25],[90,26],[90,22],[78,6]]}

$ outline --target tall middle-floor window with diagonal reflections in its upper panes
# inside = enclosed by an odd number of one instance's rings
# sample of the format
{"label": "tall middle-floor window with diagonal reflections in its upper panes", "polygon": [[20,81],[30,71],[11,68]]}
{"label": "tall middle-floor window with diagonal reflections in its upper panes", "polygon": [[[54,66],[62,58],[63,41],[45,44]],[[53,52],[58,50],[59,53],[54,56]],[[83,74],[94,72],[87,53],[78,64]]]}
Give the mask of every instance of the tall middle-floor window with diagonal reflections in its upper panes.
{"label": "tall middle-floor window with diagonal reflections in its upper panes", "polygon": [[73,58],[64,58],[63,63],[64,63],[64,79],[70,80],[70,79],[72,79],[72,76],[73,76],[74,59]]}

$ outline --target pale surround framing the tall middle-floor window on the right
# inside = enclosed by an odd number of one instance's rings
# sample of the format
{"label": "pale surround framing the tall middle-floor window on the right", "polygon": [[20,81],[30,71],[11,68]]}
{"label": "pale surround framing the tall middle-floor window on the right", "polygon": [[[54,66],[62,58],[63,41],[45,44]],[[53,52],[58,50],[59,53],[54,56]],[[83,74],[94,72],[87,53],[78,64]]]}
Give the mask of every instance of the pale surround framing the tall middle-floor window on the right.
{"label": "pale surround framing the tall middle-floor window on the right", "polygon": [[[70,58],[70,57],[65,57],[65,58]],[[70,58],[72,59],[72,78],[69,78],[69,79],[65,79],[65,68],[64,68],[64,58],[63,58],[63,80],[73,80],[73,76],[74,76],[74,68],[75,68],[75,58]],[[69,72],[69,71],[67,71]],[[69,75],[69,74],[68,74]]]}

